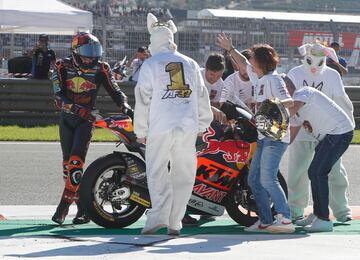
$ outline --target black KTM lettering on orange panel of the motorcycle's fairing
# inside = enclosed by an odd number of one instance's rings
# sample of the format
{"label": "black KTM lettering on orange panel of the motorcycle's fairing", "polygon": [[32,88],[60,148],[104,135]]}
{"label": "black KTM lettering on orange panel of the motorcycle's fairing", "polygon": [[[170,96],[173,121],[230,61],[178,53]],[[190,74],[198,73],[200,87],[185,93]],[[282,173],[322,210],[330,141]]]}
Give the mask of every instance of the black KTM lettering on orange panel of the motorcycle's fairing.
{"label": "black KTM lettering on orange panel of the motorcycle's fairing", "polygon": [[196,179],[221,190],[230,190],[232,180],[240,173],[204,157],[197,158]]}

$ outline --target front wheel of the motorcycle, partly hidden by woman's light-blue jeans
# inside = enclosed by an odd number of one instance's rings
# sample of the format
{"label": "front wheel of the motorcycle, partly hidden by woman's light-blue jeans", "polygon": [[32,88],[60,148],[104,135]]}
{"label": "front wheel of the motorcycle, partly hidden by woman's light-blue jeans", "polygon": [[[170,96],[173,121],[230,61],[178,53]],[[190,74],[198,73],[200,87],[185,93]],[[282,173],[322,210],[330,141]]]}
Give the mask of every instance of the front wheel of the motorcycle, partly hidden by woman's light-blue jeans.
{"label": "front wheel of the motorcycle, partly hidden by woman's light-blue jeans", "polygon": [[[287,185],[286,185],[286,181],[284,179],[284,177],[282,176],[281,172],[279,171],[278,173],[278,180],[280,183],[280,186],[283,188],[285,195],[287,197],[288,195],[288,189],[287,189]],[[232,189],[229,194],[227,195],[227,203],[225,205],[226,211],[229,214],[229,216],[238,224],[242,225],[242,226],[251,226],[252,224],[254,224],[257,220],[258,220],[258,216],[256,213],[256,206],[254,204],[253,207],[248,207],[248,205],[242,205],[239,202],[239,198],[238,198],[238,193],[239,190],[242,189],[250,189],[249,187],[242,187],[240,184],[240,181],[238,183],[236,183],[236,185],[238,186],[238,188]],[[252,196],[249,195],[247,197]],[[249,201],[247,201],[247,203],[249,203]],[[272,212],[275,215],[275,209],[274,207],[272,207]]]}

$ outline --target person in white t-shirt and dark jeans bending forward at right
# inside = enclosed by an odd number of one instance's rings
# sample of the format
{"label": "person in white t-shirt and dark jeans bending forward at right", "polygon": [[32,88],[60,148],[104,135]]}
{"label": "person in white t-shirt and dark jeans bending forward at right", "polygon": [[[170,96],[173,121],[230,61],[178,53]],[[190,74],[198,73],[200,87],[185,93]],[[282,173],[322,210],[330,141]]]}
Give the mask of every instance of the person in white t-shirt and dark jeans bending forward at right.
{"label": "person in white t-shirt and dark jeans bending forward at right", "polygon": [[308,176],[311,182],[313,213],[296,221],[308,232],[332,231],[329,219],[329,172],[349,147],[354,124],[348,114],[324,93],[312,87],[297,89],[289,108],[292,139],[300,128],[317,140]]}

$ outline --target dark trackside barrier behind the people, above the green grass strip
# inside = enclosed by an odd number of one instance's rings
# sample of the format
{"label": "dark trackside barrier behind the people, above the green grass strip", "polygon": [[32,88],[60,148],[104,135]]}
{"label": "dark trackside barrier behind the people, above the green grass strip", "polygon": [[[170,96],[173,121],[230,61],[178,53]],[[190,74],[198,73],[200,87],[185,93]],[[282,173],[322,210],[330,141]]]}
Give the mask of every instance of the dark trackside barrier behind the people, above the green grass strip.
{"label": "dark trackside barrier behind the people, above the green grass strip", "polygon": [[[134,83],[119,83],[134,107]],[[345,87],[354,104],[356,128],[360,128],[360,86]],[[102,88],[96,102],[102,113],[118,113],[118,108]],[[0,79],[0,125],[37,126],[58,123],[58,112],[53,106],[50,80]]]}

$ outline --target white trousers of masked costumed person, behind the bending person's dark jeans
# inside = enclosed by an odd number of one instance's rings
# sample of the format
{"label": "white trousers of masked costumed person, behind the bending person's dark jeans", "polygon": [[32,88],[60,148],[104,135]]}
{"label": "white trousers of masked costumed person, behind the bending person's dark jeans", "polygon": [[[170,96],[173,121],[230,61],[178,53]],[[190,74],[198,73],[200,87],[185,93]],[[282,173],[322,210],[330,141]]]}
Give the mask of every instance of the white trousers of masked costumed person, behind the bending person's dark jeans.
{"label": "white trousers of masked costumed person, behind the bending person's dark jeans", "polygon": [[[304,214],[309,203],[309,177],[307,174],[317,143],[294,141],[289,146],[288,203],[293,219]],[[346,190],[349,186],[346,169],[340,158],[329,173],[329,204],[335,218],[351,215]]]}

